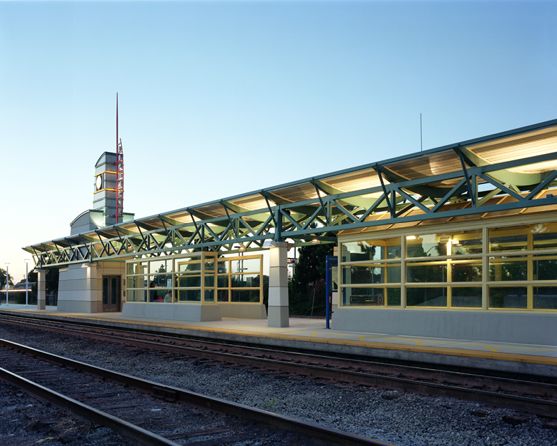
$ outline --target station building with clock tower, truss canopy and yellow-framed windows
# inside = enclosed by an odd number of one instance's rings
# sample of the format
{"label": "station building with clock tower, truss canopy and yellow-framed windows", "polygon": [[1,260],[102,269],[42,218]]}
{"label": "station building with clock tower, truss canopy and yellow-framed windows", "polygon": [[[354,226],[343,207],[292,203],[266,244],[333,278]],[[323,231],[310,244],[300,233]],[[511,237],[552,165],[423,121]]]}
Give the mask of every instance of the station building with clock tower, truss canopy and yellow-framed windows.
{"label": "station building with clock tower, truss canopy and yellow-framed windows", "polygon": [[139,219],[117,164],[70,236],[24,248],[39,306],[59,268],[63,311],[286,327],[288,249],[334,243],[335,330],[557,343],[557,120]]}

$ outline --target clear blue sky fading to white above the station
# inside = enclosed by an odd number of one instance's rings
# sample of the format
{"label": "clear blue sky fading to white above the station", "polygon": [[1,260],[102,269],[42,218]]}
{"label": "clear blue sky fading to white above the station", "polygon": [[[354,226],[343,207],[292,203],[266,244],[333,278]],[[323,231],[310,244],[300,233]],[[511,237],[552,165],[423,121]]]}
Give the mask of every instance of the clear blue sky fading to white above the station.
{"label": "clear blue sky fading to white above the station", "polygon": [[557,118],[556,1],[0,2],[0,267],[120,137],[144,217]]}

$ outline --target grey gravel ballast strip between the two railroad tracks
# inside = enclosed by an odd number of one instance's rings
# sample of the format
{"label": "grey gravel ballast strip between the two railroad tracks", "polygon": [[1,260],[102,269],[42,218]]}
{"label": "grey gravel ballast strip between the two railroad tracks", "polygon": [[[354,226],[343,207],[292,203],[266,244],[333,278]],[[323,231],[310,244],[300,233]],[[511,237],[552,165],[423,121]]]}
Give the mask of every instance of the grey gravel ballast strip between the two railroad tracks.
{"label": "grey gravel ballast strip between the two railroad tracks", "polygon": [[[100,341],[12,325],[0,325],[0,337],[140,378],[317,422],[397,446],[557,445],[557,431],[542,428],[549,422],[547,419],[532,416],[513,426],[505,419],[521,414],[468,401],[366,387],[319,385],[310,379],[275,378],[218,365],[205,367],[194,360],[164,357]],[[13,406],[13,401],[10,401]],[[5,435],[1,420],[6,418],[8,402],[4,399],[0,402],[1,443]]]}

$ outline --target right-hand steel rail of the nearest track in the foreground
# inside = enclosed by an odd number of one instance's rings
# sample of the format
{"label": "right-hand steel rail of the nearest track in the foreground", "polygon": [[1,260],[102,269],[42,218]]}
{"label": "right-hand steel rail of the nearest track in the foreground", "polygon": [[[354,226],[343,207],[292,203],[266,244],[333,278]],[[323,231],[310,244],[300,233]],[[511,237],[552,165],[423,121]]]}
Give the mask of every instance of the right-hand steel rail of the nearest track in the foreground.
{"label": "right-hand steel rail of the nearest track in the foreground", "polygon": [[[180,389],[179,387],[173,387],[161,383],[155,383],[154,381],[145,380],[142,378],[136,378],[135,376],[131,376],[128,374],[120,374],[116,371],[104,369],[102,367],[96,367],[92,364],[87,364],[86,362],[72,360],[68,357],[53,355],[52,353],[41,351],[36,348],[31,348],[29,346],[24,346],[22,344],[17,344],[16,342],[7,341],[6,339],[0,339],[0,345],[6,346],[8,348],[13,348],[17,351],[21,351],[29,355],[40,357],[44,360],[53,362],[55,364],[60,364],[65,367],[79,369],[81,371],[84,371],[87,374],[98,376],[99,378],[106,378],[115,383],[128,385],[141,392],[146,392],[158,397],[165,397],[166,399],[170,399],[171,401],[183,403],[186,406],[203,409],[203,410],[210,410],[212,412],[223,413],[228,415],[237,415],[238,417],[242,417],[246,420],[269,424],[281,429],[286,429],[288,431],[295,431],[298,433],[302,433],[306,436],[327,441],[328,443],[336,443],[345,446],[360,446],[360,445],[361,446],[393,446],[391,445],[391,443],[384,443],[379,440],[372,440],[370,438],[358,436],[353,433],[340,431],[338,429],[332,429],[327,426],[320,426],[319,424],[306,422],[304,420],[297,420],[295,418],[288,417],[285,415],[267,412],[266,410],[251,408],[249,406],[233,403],[231,401],[226,401],[224,399],[208,397],[207,395],[198,394],[196,392],[190,392],[189,390],[183,390]],[[8,373],[11,374],[11,372]],[[21,379],[25,379],[25,378],[21,378]],[[46,389],[46,387],[44,388]],[[63,395],[61,394],[58,394],[56,392],[54,393],[58,396],[58,398],[63,397]],[[80,404],[81,406],[84,406],[78,401],[74,401],[74,402]],[[77,409],[81,410],[79,408]],[[100,411],[97,410],[96,412],[100,412]],[[75,413],[78,412],[76,411]],[[97,416],[97,415],[93,414],[93,416]],[[95,420],[91,420],[91,421],[95,421]],[[101,423],[98,422],[97,424],[101,424]],[[119,425],[117,427],[118,429],[120,429]],[[177,445],[177,443],[173,443],[170,440],[166,440],[164,438],[163,440],[166,441],[167,443],[139,443],[139,444]]]}

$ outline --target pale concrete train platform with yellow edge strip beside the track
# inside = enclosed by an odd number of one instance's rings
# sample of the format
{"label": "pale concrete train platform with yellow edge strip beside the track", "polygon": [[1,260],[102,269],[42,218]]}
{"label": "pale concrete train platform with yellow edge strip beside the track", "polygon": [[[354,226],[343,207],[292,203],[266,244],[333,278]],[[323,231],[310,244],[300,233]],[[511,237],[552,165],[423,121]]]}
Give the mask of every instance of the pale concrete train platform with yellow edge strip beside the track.
{"label": "pale concrete train platform with yellow edge strip beside the track", "polygon": [[[111,313],[66,313],[56,307],[0,306],[0,314],[26,314],[35,318],[86,322],[127,330],[182,334],[213,341],[242,342],[266,348],[373,357],[375,360],[415,361],[453,368],[473,367],[540,376],[557,376],[557,345],[513,344],[469,339],[414,337],[372,332],[346,332],[325,328],[324,318],[290,317],[287,328],[267,327],[266,319],[222,318],[221,321],[180,322],[149,320]],[[334,328],[334,321],[331,323]]]}

